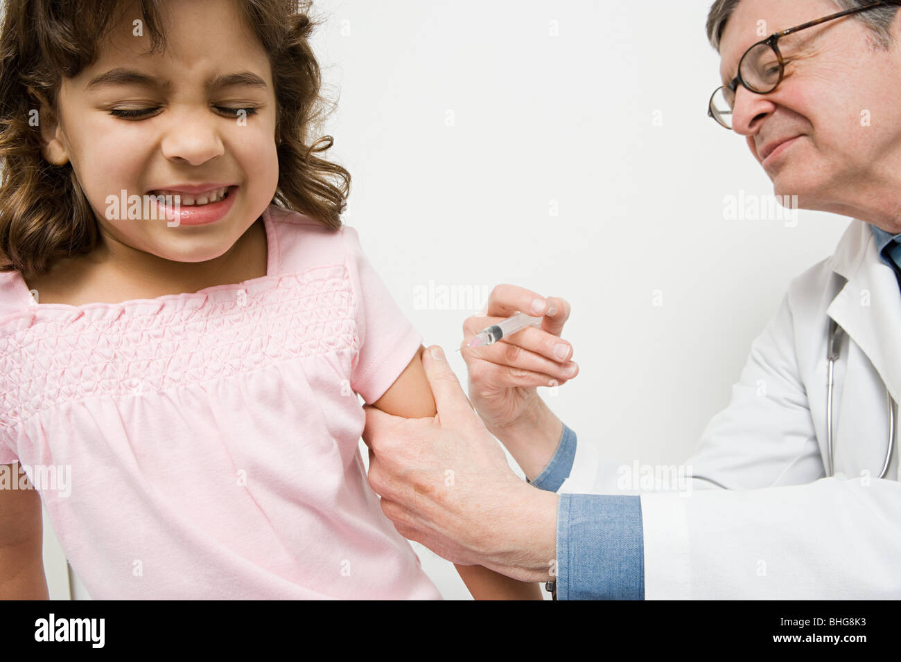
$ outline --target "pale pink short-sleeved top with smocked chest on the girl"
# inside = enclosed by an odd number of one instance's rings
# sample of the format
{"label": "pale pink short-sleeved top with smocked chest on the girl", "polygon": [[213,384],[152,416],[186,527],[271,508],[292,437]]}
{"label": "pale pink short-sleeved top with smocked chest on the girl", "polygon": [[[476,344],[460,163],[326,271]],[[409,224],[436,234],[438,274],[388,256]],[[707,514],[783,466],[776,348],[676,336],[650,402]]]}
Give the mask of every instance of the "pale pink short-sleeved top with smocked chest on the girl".
{"label": "pale pink short-sleeved top with smocked chest on the girl", "polygon": [[357,394],[423,339],[355,230],[263,220],[267,275],[196,294],[36,304],[0,274],[0,464],[95,599],[441,599],[358,449]]}

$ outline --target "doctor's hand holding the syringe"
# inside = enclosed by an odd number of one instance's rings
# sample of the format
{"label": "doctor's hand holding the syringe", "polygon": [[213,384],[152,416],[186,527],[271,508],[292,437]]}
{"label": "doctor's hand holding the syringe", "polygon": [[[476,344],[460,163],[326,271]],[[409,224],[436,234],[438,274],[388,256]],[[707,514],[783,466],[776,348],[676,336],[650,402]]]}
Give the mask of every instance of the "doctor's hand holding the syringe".
{"label": "doctor's hand holding the syringe", "polygon": [[[544,404],[537,386],[564,385],[578,375],[578,365],[570,360],[572,346],[560,339],[569,303],[499,285],[485,311],[487,316],[473,315],[463,322],[461,352],[469,371],[469,400],[525,476],[534,479],[551,460],[563,432],[563,423]],[[517,312],[542,316],[541,328],[527,327],[486,347],[466,347],[479,331]]]}

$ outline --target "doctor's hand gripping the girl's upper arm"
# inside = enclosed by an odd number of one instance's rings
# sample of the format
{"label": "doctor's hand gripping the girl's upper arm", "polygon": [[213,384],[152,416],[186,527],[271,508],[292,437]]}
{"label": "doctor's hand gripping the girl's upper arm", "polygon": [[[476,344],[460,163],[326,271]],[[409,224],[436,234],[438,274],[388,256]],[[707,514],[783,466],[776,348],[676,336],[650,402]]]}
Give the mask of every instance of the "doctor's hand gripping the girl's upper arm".
{"label": "doctor's hand gripping the girl's upper arm", "polygon": [[423,352],[433,418],[405,419],[366,405],[369,485],[397,531],[463,566],[523,582],[549,581],[558,495],[514,474],[473,412],[446,358]]}

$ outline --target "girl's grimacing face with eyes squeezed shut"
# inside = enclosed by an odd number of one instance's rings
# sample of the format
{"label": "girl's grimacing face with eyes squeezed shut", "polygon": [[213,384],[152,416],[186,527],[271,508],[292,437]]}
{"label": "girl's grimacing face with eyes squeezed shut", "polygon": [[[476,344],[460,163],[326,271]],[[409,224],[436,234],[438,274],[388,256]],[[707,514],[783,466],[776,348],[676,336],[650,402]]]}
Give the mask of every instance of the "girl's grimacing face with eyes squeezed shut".
{"label": "girl's grimacing face with eyes squeezed shut", "polygon": [[[146,31],[140,36],[141,13],[132,3],[95,64],[63,79],[56,121],[45,122],[49,113],[41,111],[44,157],[71,162],[106,254],[139,270],[187,268],[157,258],[195,263],[222,257],[278,185],[271,69],[238,7],[233,0],[177,0],[165,8],[166,50],[146,54],[150,37]],[[204,225],[109,211],[107,196],[121,199],[123,190],[126,199],[143,200],[151,191],[189,185],[237,188],[229,193],[229,211]],[[185,203],[183,211],[192,209]]]}

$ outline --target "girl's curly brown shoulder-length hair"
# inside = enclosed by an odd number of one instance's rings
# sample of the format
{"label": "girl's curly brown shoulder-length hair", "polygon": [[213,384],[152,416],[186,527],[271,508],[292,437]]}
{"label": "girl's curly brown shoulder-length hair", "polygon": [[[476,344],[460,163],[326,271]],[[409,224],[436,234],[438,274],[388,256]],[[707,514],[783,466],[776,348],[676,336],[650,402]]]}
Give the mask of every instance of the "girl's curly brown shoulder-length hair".
{"label": "girl's curly brown shoulder-length hair", "polygon": [[[273,204],[341,227],[350,173],[321,159],[332,137],[311,133],[328,105],[319,64],[309,43],[311,2],[241,0],[247,24],[268,53],[275,84],[278,188]],[[41,156],[41,132],[32,115],[45,99],[56,113],[62,77],[96,61],[99,44],[121,5],[114,0],[5,0],[0,28],[0,271],[24,277],[59,258],[82,255],[99,239],[96,217],[71,164]],[[165,49],[161,0],[141,0],[150,52]],[[29,87],[36,95],[32,95]],[[70,210],[70,211],[68,211]]]}

